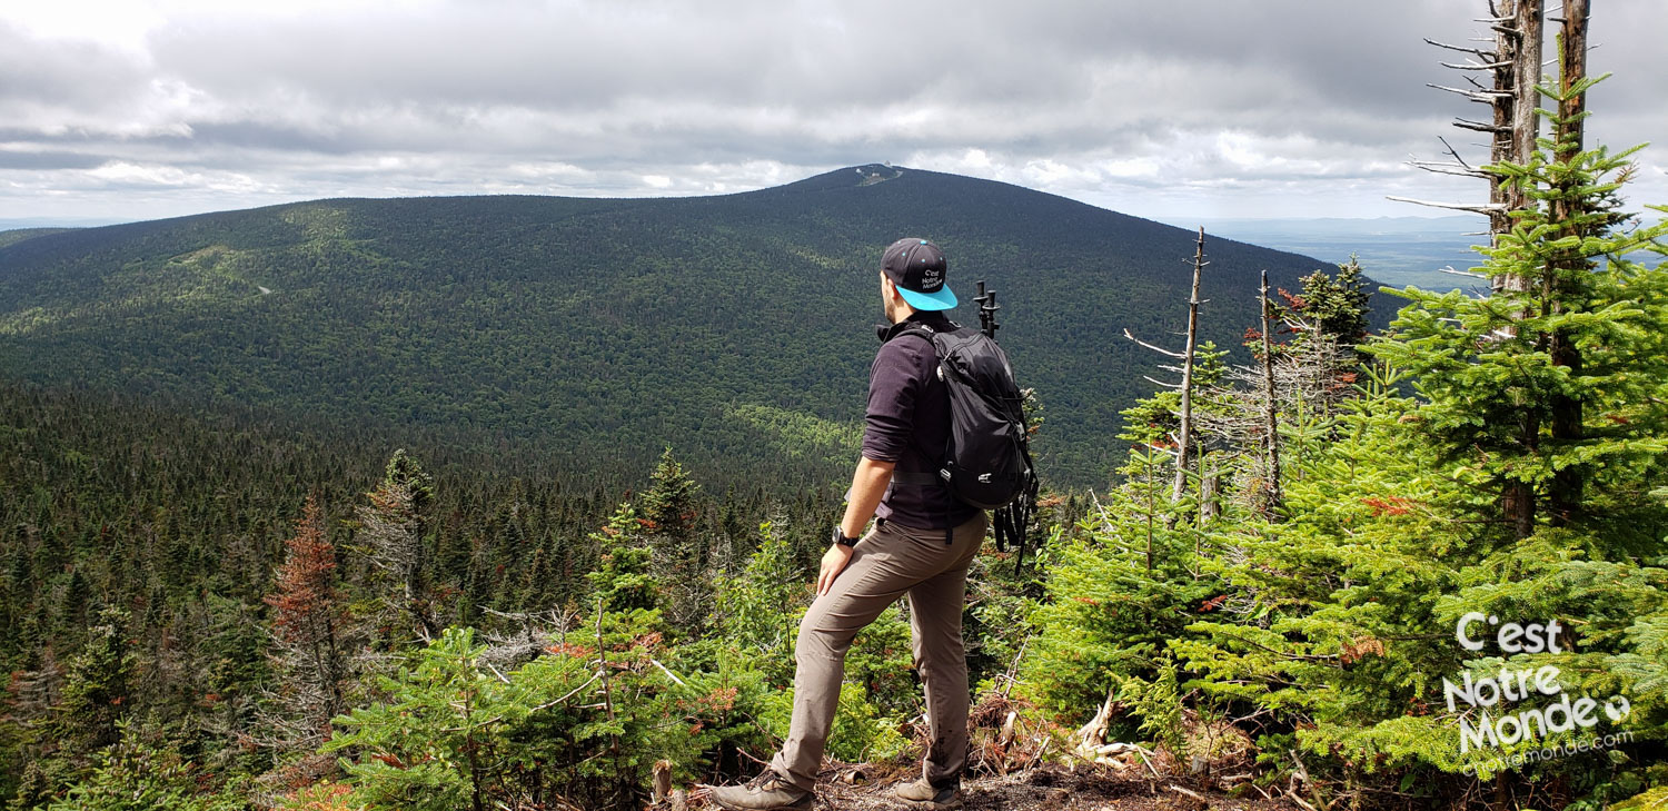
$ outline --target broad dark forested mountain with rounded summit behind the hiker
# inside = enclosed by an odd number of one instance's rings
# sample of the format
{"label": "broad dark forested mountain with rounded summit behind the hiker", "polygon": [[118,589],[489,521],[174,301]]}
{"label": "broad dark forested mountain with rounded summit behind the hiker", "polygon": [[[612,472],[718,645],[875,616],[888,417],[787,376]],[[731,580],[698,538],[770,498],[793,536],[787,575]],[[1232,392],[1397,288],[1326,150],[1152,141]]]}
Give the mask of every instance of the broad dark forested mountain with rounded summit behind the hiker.
{"label": "broad dark forested mountain with rounded summit behind the hiker", "polygon": [[[1044,474],[1101,486],[1119,409],[1179,345],[1194,234],[1016,185],[849,167],[694,199],[317,200],[0,235],[0,375],[255,404],[575,472],[664,446],[714,481],[841,487],[881,320],[877,262],[939,242],[1044,404]],[[1211,239],[1203,334],[1238,347],[1258,270],[1331,265]],[[1386,302],[1393,305],[1393,302]],[[801,484],[794,484],[801,482]]]}

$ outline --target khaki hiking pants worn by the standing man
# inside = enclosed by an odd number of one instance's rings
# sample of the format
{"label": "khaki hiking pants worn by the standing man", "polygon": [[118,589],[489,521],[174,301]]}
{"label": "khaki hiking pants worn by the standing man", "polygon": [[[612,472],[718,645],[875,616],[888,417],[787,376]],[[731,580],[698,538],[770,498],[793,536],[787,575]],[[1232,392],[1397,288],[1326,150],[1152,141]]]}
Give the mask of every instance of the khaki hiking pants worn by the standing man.
{"label": "khaki hiking pants worn by the standing man", "polygon": [[961,612],[967,566],[979,554],[989,516],[979,511],[954,527],[912,529],[876,521],[852,547],[846,569],[827,594],[816,597],[799,622],[794,659],[794,719],[771,769],[801,789],[812,789],[822,769],[822,749],[834,726],[839,686],[851,641],[897,597],[909,596],[909,626],[916,669],[927,698],[929,741],[922,776],[936,784],[959,783],[967,763],[967,657],[961,644]]}

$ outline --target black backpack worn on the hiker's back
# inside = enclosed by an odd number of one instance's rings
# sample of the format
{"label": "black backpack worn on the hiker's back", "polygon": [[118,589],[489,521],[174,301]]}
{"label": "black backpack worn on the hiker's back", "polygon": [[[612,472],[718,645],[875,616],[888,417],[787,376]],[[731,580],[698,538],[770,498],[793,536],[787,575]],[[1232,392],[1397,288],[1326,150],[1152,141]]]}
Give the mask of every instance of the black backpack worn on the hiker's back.
{"label": "black backpack worn on the hiker's back", "polygon": [[[996,339],[951,322],[949,330],[909,322],[892,337],[916,334],[932,342],[937,375],[949,390],[949,442],[934,474],[894,472],[899,484],[942,481],[949,492],[979,509],[992,509],[996,547],[1009,542],[1024,556],[1024,531],[1036,504],[1024,394]],[[932,454],[927,454],[931,459]],[[1016,562],[1017,567],[1017,562]]]}

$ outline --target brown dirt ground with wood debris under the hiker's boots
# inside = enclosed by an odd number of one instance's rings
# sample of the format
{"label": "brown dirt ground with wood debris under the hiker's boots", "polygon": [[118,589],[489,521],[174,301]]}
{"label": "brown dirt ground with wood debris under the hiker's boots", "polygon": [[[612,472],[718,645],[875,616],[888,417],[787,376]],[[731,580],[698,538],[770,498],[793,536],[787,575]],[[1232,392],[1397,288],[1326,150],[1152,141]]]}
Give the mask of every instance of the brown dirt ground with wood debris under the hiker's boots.
{"label": "brown dirt ground with wood debris under the hiker's boots", "polygon": [[[824,773],[817,783],[817,811],[904,811],[911,806],[892,798],[892,786],[914,779],[914,773],[881,774],[867,768]],[[1014,774],[977,778],[962,784],[967,811],[1299,811],[1296,804],[1203,791],[1179,779],[1131,779],[1109,769],[1037,766]],[[689,796],[691,809],[717,808],[704,791]]]}

